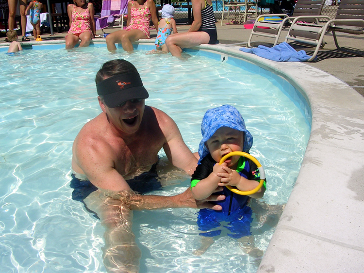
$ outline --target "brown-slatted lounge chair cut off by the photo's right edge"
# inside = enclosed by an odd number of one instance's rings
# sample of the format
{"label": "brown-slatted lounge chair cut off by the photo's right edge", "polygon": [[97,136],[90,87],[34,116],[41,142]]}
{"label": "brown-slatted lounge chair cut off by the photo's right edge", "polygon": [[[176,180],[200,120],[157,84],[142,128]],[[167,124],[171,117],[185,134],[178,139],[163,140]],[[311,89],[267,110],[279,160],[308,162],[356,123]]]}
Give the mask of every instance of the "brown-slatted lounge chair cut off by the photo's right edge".
{"label": "brown-slatted lounge chair cut off by the photo's right edge", "polygon": [[[324,25],[314,25],[303,23],[307,19],[329,19]],[[298,16],[292,22],[288,31],[285,42],[289,40],[315,45],[314,54],[308,60],[311,62],[315,59],[318,49],[324,46],[325,34],[332,32],[335,46],[342,51],[349,51],[358,56],[364,56],[360,50],[345,50],[337,42],[336,32],[345,32],[350,34],[364,33],[364,0],[341,0],[336,12],[335,19],[330,20],[327,16]]]}

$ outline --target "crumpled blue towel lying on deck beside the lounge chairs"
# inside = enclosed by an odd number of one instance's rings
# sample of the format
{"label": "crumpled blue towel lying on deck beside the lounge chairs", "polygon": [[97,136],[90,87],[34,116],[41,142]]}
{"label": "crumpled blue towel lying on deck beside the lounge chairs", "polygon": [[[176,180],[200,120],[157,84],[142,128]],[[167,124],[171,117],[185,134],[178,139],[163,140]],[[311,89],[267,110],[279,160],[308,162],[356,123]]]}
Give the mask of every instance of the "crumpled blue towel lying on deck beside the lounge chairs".
{"label": "crumpled blue towel lying on deck beside the lounge chairs", "polygon": [[308,56],[304,50],[296,51],[286,42],[274,46],[273,48],[258,46],[258,48],[240,48],[239,50],[253,53],[276,62],[306,62],[311,57]]}

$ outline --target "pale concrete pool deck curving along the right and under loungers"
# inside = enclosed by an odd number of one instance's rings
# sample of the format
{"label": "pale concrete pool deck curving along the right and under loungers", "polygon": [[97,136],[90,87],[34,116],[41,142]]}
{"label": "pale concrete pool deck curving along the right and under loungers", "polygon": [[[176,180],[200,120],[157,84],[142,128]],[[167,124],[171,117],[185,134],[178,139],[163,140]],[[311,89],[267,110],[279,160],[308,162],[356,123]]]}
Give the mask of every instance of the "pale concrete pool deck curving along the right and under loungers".
{"label": "pale concrete pool deck curving along the right and under loungers", "polygon": [[[242,25],[217,26],[220,42],[248,40],[250,30]],[[178,26],[180,32],[187,29]],[[61,34],[50,39],[62,40],[66,33]],[[331,49],[332,36],[325,40],[325,48]],[[343,45],[362,50],[363,40],[364,35],[339,36]],[[312,109],[311,136],[298,179],[258,272],[363,272],[364,97],[358,92],[364,85],[364,58],[277,63],[237,46],[200,48],[240,56],[275,71],[303,92]]]}

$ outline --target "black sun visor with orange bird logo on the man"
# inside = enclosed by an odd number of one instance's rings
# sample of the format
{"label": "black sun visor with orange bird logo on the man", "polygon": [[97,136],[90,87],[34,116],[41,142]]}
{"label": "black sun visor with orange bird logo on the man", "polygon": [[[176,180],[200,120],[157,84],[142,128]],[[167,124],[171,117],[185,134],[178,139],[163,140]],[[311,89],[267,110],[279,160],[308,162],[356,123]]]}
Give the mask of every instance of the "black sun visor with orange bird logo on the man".
{"label": "black sun visor with orange bird logo on the man", "polygon": [[115,108],[130,99],[149,97],[138,72],[118,74],[101,80],[96,84],[96,89],[109,108]]}

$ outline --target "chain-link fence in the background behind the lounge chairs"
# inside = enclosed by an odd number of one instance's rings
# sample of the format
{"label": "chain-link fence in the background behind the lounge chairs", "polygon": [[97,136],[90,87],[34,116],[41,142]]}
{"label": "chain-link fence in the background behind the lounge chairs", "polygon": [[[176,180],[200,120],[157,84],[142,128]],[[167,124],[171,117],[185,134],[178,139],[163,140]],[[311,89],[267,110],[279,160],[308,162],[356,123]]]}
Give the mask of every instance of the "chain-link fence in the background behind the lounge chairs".
{"label": "chain-link fence in the background behind the lounge chairs", "polygon": [[[338,7],[338,2],[337,0],[326,0],[325,1],[325,5],[324,8],[322,10],[322,15],[325,16],[329,16],[331,19],[333,19],[336,15],[336,11],[337,11],[337,7]],[[191,24],[192,20],[191,17],[189,17],[188,13],[191,13],[191,2],[180,2],[180,1],[176,1],[176,2],[170,2],[171,5],[175,6],[175,14],[174,14],[174,19],[176,20],[176,22],[178,24]],[[213,8],[214,8],[214,14],[215,14],[215,19],[216,20],[221,20],[221,15],[222,15],[222,0],[213,0],[212,1],[213,4]],[[161,6],[161,1],[157,0],[156,3],[157,6]],[[184,8],[183,6],[186,5],[188,7]],[[225,7],[225,10],[227,8]],[[287,12],[286,10],[282,10],[283,13]],[[269,9],[268,8],[258,8],[258,14],[269,14]],[[248,17],[248,20],[253,20],[255,19],[254,17],[250,16]]]}

